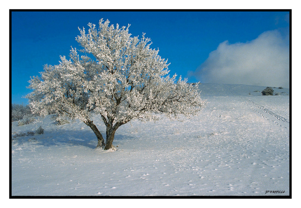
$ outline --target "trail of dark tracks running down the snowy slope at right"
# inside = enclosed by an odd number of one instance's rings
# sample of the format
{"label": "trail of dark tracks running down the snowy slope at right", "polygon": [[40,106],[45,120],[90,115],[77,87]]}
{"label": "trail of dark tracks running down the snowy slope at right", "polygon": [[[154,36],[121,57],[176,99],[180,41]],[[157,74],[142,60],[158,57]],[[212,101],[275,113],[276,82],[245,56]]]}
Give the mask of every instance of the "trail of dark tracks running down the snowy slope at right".
{"label": "trail of dark tracks running down the snowy slope at right", "polygon": [[[283,118],[282,116],[277,115],[276,113],[266,109],[264,106],[261,106],[261,105],[255,103],[255,102],[253,102],[249,97],[240,96],[240,99],[243,102],[246,102],[247,105],[250,105],[251,109],[253,111],[259,113],[260,115],[262,115],[263,118],[266,118],[267,120],[273,121],[281,127],[287,128],[287,127],[281,125],[278,121],[282,121],[284,123],[290,123],[290,121],[288,119]],[[276,118],[277,120],[274,120],[274,119],[271,119],[271,118]]]}

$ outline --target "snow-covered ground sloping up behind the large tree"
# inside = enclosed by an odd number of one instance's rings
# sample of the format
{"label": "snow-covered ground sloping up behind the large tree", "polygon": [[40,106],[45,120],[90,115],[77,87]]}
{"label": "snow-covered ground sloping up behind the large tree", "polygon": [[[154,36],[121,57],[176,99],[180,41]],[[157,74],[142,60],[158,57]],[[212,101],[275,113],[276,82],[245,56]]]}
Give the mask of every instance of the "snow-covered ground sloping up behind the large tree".
{"label": "snow-covered ground sloping up behind the large tree", "polygon": [[[199,116],[132,121],[116,131],[116,151],[95,149],[97,138],[83,122],[58,126],[52,115],[20,127],[13,122],[11,194],[289,195],[289,89],[262,96],[264,89],[202,84],[201,97],[208,103]],[[93,121],[105,136],[101,118]],[[44,134],[14,137],[40,125]]]}

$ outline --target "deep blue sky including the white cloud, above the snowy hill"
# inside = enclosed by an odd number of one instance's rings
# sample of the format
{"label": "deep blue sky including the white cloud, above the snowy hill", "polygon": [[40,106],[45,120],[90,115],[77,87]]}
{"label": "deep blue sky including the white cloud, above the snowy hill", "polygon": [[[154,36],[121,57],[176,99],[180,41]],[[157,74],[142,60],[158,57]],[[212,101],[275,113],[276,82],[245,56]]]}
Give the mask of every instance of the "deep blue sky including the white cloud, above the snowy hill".
{"label": "deep blue sky including the white cloud, above the snowy hill", "polygon": [[[146,33],[168,59],[170,74],[188,82],[289,87],[289,12],[118,11],[18,12],[11,15],[11,98],[30,92],[30,76],[68,56],[78,27],[109,19]],[[279,57],[281,57],[279,59]],[[272,76],[271,76],[272,75]],[[264,77],[264,78],[262,78]],[[266,78],[265,78],[266,77]]]}

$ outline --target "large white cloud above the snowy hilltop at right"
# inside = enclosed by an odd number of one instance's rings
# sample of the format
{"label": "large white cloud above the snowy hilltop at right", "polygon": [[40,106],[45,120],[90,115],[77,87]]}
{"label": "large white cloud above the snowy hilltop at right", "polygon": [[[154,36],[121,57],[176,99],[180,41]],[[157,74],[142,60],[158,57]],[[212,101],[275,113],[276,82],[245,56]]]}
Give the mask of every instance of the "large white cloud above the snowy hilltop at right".
{"label": "large white cloud above the snowy hilltop at right", "polygon": [[224,41],[209,54],[194,75],[204,83],[289,87],[289,41],[278,30],[255,40]]}

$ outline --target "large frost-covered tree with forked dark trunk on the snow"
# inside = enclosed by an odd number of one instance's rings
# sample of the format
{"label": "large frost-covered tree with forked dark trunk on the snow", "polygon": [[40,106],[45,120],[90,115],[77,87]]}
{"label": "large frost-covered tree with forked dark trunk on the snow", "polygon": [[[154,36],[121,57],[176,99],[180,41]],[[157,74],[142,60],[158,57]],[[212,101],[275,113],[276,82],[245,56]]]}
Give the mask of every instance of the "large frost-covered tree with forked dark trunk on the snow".
{"label": "large frost-covered tree with forked dark trunk on the snow", "polygon": [[[158,120],[159,114],[189,118],[205,106],[197,86],[168,75],[167,60],[150,48],[145,33],[140,39],[131,37],[130,25],[120,28],[109,23],[101,19],[98,28],[89,23],[88,33],[79,29],[76,40],[85,55],[79,57],[71,47],[70,60],[63,56],[58,65],[45,65],[40,77],[31,77],[33,91],[26,97],[33,113],[56,111],[79,119],[97,136],[97,147],[110,149],[118,127],[132,119]],[[93,114],[100,115],[106,126],[106,141],[92,121]]]}

